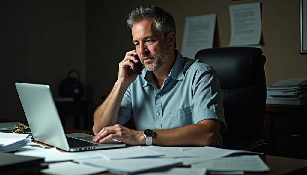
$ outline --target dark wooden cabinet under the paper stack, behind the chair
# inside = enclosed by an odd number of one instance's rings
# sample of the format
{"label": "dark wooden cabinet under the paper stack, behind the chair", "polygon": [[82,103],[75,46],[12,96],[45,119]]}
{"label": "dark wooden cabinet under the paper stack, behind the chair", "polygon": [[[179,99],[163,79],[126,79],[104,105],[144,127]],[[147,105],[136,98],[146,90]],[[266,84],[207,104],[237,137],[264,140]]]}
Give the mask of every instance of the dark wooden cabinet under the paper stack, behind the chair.
{"label": "dark wooden cabinet under the paper stack, behind the chair", "polygon": [[263,138],[271,154],[307,159],[307,106],[266,105]]}

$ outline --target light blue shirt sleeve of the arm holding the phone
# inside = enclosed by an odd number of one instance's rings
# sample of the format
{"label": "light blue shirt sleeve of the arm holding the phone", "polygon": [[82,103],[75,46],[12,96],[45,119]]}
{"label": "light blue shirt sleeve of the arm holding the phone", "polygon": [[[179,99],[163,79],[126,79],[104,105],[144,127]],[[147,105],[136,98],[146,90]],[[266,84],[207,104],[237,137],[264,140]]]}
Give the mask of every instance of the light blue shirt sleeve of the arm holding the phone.
{"label": "light blue shirt sleeve of the arm holding the phone", "polygon": [[[131,86],[131,85],[130,85]],[[131,102],[131,87],[126,90],[122,102],[119,107],[117,122],[120,125],[124,125],[133,116],[132,102]]]}

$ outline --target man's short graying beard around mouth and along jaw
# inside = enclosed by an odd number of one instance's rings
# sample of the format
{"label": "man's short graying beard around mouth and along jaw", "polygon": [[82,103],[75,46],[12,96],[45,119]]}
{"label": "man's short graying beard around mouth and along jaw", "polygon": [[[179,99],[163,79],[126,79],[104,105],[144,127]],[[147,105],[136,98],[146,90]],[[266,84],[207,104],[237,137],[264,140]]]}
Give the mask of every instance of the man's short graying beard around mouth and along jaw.
{"label": "man's short graying beard around mouth and along jaw", "polygon": [[143,55],[143,57],[145,58],[152,57],[155,59],[152,67],[148,67],[148,65],[146,65],[144,61],[142,62],[142,64],[146,67],[146,70],[156,71],[165,63],[165,61],[169,58],[169,55],[170,53],[167,50],[166,45],[164,44],[163,50],[157,56],[155,54]]}

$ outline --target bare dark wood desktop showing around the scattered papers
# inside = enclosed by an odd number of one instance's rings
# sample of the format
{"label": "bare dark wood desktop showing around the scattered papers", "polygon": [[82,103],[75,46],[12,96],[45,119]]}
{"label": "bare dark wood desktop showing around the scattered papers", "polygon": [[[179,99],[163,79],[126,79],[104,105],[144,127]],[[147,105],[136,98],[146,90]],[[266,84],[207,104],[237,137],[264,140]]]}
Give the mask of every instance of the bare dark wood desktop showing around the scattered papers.
{"label": "bare dark wood desktop showing around the scattered papers", "polygon": [[[80,129],[65,129],[66,134],[70,133],[86,133],[93,135],[92,131],[85,131]],[[286,158],[270,155],[260,155],[262,160],[270,167],[270,171],[255,173],[255,172],[246,172],[247,175],[276,175],[276,174],[307,174],[307,160],[296,159],[296,158]],[[115,173],[104,172],[99,173],[101,175],[115,175]]]}

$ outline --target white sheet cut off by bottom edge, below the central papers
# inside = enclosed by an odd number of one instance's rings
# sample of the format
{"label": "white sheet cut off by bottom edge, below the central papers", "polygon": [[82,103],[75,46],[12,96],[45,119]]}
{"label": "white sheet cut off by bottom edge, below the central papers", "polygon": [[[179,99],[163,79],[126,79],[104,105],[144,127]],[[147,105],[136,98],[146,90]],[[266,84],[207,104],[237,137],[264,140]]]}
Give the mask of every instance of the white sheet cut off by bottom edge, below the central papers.
{"label": "white sheet cut off by bottom edge, below the central papers", "polygon": [[156,171],[156,172],[149,172],[149,173],[141,173],[138,175],[186,175],[186,174],[193,174],[193,175],[205,175],[206,169],[199,168],[199,169],[192,169],[192,168],[171,168],[166,171]]}

